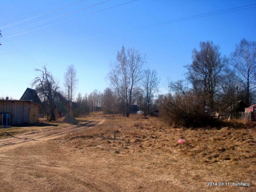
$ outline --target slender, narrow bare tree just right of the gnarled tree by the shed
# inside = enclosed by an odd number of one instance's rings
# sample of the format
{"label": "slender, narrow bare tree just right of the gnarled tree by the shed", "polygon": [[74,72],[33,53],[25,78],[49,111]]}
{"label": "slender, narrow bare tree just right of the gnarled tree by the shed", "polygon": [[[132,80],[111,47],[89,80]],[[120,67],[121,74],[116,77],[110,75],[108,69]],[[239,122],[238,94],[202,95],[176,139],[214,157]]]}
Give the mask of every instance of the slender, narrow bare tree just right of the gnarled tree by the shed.
{"label": "slender, narrow bare tree just right of the gnarled tree by the shed", "polygon": [[70,94],[70,98],[68,98],[71,102],[75,96],[75,90],[77,88],[78,79],[76,78],[77,71],[74,68],[74,65],[69,65],[66,69],[66,73],[64,75],[64,86],[66,94],[68,95],[68,91]]}

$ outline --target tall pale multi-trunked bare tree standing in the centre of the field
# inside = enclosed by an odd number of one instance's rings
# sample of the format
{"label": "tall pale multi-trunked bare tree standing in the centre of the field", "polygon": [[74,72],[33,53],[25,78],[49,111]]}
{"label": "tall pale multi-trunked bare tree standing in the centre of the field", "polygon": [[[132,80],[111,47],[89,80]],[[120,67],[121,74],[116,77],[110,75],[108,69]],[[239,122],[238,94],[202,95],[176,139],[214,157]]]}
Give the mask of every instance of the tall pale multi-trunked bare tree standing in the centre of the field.
{"label": "tall pale multi-trunked bare tree standing in the centre of the field", "polygon": [[127,53],[124,46],[118,51],[115,66],[111,65],[108,74],[111,86],[118,95],[118,105],[123,107],[123,114],[129,117],[130,105],[135,95],[134,89],[141,80],[141,68],[145,63],[145,56],[134,48],[129,48]]}

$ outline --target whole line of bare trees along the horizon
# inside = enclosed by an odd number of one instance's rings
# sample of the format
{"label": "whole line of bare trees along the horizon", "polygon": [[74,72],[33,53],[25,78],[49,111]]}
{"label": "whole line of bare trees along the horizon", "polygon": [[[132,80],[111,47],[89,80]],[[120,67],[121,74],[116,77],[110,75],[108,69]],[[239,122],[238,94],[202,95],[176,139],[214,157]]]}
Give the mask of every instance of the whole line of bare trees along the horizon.
{"label": "whole line of bare trees along the horizon", "polygon": [[[176,106],[179,102],[186,103],[186,97],[202,101],[200,106],[202,109],[199,111],[204,113],[207,107],[211,117],[216,116],[216,113],[219,115],[231,113],[239,100],[243,100],[247,106],[255,102],[255,41],[241,40],[229,58],[223,56],[220,47],[214,45],[212,41],[200,42],[200,49],[192,51],[192,63],[185,66],[187,69],[185,80],[172,81],[169,77],[168,93],[157,99],[155,96],[158,93],[160,79],[156,70],[143,69],[145,63],[144,54],[134,48],[125,49],[122,46],[117,52],[116,61],[110,64],[111,69],[107,74],[110,87],[107,87],[104,92],[95,89],[83,97],[78,93],[76,99],[74,97],[78,79],[73,65],[69,65],[65,72],[63,91],[58,86],[59,82],[53,78],[45,66],[42,70],[36,69],[40,75],[33,80],[32,86],[36,88],[43,102],[48,105],[46,110],[51,113],[52,120],[55,119],[53,111],[58,107],[56,100],[59,97],[55,94],[57,92],[68,100],[68,108],[72,105],[66,111],[68,114],[72,112],[88,114],[88,112],[103,110],[105,113],[121,113],[126,117],[129,117],[131,107],[134,105],[139,106],[145,114],[158,109],[166,114],[172,111],[172,114],[175,111],[167,109],[168,105]],[[69,98],[68,89],[66,89],[68,86]],[[165,107],[162,107],[163,105]],[[193,107],[194,104],[190,103],[190,105],[186,107]],[[176,106],[176,110],[178,108]],[[181,109],[181,111],[186,110]]]}

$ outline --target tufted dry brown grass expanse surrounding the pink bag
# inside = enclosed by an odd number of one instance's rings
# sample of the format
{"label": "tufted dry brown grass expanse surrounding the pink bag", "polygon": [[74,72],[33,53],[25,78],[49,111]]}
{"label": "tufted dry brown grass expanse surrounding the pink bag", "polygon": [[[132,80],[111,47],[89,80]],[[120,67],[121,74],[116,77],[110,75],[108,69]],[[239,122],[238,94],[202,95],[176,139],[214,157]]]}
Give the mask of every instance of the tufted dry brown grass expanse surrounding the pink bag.
{"label": "tufted dry brown grass expanse surrounding the pink bag", "polygon": [[[156,117],[111,115],[100,126],[70,133],[64,145],[89,153],[91,163],[100,159],[95,169],[102,175],[118,166],[119,179],[112,182],[122,189],[128,185],[128,191],[254,191],[255,125],[232,122],[222,129],[183,129]],[[178,144],[179,138],[186,144]],[[250,182],[251,187],[209,187],[207,181]]]}

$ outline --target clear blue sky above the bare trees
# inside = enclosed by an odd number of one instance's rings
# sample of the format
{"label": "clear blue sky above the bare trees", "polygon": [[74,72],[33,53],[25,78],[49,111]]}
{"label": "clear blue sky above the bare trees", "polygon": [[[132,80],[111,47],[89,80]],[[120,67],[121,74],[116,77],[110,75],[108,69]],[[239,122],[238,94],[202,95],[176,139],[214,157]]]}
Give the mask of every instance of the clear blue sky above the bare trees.
{"label": "clear blue sky above the bare trees", "polygon": [[[2,36],[15,48],[5,39],[0,39],[0,96],[8,95],[19,99],[25,89],[31,87],[37,63],[45,64],[59,80],[61,87],[67,66],[73,64],[79,79],[76,94],[89,93],[93,89],[103,91],[109,86],[105,77],[110,69],[110,61],[115,61],[117,51],[122,45],[134,47],[146,54],[147,63],[144,68],[157,70],[161,78],[160,90],[164,93],[168,76],[173,80],[184,78],[183,66],[191,63],[192,50],[199,48],[200,41],[213,41],[228,56],[241,39],[256,40],[256,8],[133,30],[153,23],[256,4],[255,0],[138,0],[88,14],[129,1],[111,0],[83,11],[66,14],[106,1],[87,0],[18,25],[5,27],[77,1],[1,0],[0,30]],[[51,19],[62,14],[63,17]],[[46,19],[51,21],[18,31]],[[45,27],[46,25],[51,26]],[[41,27],[45,28],[34,30]],[[29,30],[34,31],[20,34]]]}

